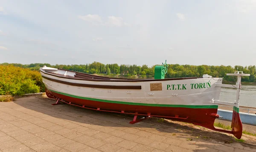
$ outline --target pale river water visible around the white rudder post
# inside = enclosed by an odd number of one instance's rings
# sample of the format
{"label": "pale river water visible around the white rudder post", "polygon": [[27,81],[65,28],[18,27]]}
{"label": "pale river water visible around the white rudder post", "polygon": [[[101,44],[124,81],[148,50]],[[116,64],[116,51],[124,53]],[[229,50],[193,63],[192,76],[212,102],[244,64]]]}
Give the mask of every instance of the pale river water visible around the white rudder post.
{"label": "pale river water visible around the white rudder post", "polygon": [[[220,100],[234,102],[236,100],[236,89],[221,88]],[[242,85],[239,106],[256,108],[256,85]]]}

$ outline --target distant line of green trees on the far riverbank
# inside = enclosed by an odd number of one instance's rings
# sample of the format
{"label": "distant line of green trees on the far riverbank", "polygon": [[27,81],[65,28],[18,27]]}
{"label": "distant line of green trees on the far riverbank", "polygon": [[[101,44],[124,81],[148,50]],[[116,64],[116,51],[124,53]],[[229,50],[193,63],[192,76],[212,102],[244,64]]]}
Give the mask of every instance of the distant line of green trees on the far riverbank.
{"label": "distant line of green trees on the far riverbank", "polygon": [[[58,69],[67,69],[76,72],[84,72],[97,75],[109,76],[122,76],[122,77],[154,77],[154,66],[148,67],[147,65],[137,66],[133,65],[118,65],[118,64],[103,64],[93,62],[90,64],[80,65],[50,65],[48,63],[32,63],[32,64],[19,64],[19,63],[2,63],[0,65],[12,65],[22,68],[28,68],[38,71],[40,67],[48,66]],[[227,73],[234,73],[235,71],[243,71],[243,73],[250,74],[250,77],[242,77],[242,82],[256,83],[256,66],[207,66],[207,65],[180,65],[169,64],[166,78],[177,77],[202,77],[204,74],[211,75],[212,77],[223,77],[224,80],[236,82],[235,76],[227,76]]]}

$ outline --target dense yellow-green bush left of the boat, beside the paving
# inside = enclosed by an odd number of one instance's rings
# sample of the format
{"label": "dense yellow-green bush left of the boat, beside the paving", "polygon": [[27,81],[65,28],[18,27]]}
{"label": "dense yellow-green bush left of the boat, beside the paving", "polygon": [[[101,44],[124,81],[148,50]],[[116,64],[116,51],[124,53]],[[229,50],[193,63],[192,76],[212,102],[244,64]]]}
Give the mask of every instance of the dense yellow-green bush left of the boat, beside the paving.
{"label": "dense yellow-green bush left of the boat, beside the paving", "polygon": [[0,65],[0,95],[23,95],[44,92],[44,83],[38,71],[12,65]]}

